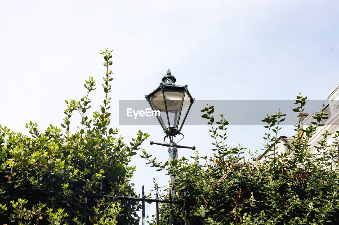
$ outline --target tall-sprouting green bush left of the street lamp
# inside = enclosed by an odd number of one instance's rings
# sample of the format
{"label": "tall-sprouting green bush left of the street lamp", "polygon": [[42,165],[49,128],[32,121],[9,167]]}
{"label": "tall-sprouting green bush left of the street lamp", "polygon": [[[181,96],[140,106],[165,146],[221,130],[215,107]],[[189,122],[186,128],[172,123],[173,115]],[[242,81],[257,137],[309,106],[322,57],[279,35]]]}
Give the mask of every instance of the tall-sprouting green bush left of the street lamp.
{"label": "tall-sprouting green bush left of the street lamp", "polygon": [[[93,77],[86,80],[87,91],[81,101],[66,100],[66,117],[61,129],[51,125],[44,132],[37,123],[26,125],[32,137],[0,126],[0,221],[1,224],[126,224],[126,202],[114,198],[85,198],[85,194],[126,196],[128,181],[136,167],[131,157],[148,137],[138,132],[128,147],[117,129],[108,128],[108,113],[113,80],[112,50],[104,57],[103,105],[86,116],[91,107],[89,93],[95,90]],[[81,122],[70,126],[74,112]],[[78,131],[76,131],[78,130]],[[75,131],[75,132],[71,132]],[[87,218],[84,203],[87,201]],[[132,224],[137,224],[136,202],[132,203]],[[69,214],[72,216],[69,217]]]}

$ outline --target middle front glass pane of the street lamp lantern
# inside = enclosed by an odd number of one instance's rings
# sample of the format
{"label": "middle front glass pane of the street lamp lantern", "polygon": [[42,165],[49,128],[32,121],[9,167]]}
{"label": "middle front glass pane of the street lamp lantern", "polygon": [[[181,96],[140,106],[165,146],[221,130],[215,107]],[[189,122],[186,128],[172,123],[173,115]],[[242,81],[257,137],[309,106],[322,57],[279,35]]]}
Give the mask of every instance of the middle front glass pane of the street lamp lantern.
{"label": "middle front glass pane of the street lamp lantern", "polygon": [[184,90],[164,89],[170,127],[177,127]]}

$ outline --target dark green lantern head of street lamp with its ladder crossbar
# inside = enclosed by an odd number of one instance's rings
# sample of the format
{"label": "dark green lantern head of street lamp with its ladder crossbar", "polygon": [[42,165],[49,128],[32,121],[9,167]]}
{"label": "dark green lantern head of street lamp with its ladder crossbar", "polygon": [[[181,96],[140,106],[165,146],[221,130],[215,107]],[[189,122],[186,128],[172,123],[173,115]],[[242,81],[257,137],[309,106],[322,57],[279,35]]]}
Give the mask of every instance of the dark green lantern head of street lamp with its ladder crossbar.
{"label": "dark green lantern head of street lamp with its ladder crossbar", "polygon": [[[149,144],[168,147],[169,158],[176,160],[178,158],[178,148],[195,149],[194,146],[177,145],[173,140],[176,135],[184,136],[180,131],[186,120],[188,111],[190,111],[194,102],[194,98],[192,98],[190,92],[188,92],[187,85],[180,86],[174,84],[176,79],[171,75],[169,69],[161,81],[159,87],[151,94],[145,95],[145,97],[152,110],[160,112],[156,113],[156,116],[166,134],[164,142],[166,143],[165,139],[167,137],[170,142],[163,144],[151,141]],[[181,140],[179,140],[179,142]]]}

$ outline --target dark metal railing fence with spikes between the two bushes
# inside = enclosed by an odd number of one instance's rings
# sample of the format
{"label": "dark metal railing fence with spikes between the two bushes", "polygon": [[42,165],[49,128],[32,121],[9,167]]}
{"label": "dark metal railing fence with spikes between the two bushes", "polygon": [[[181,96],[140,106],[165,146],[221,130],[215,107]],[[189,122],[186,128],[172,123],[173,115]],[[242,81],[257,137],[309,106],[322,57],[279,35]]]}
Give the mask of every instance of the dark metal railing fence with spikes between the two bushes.
{"label": "dark metal railing fence with spikes between the two bushes", "polygon": [[[189,220],[189,215],[188,215],[188,210],[186,211],[186,204],[185,202],[182,201],[175,201],[172,200],[172,190],[169,188],[169,200],[162,200],[159,199],[159,193],[158,189],[155,190],[155,199],[152,198],[145,198],[145,191],[144,191],[144,185],[142,185],[142,195],[141,198],[136,198],[136,197],[131,197],[131,192],[128,192],[128,197],[125,196],[113,196],[113,195],[95,195],[95,194],[81,194],[81,193],[74,193],[78,195],[82,195],[85,197],[84,201],[84,220],[85,223],[87,222],[87,201],[88,198],[103,198],[103,197],[111,197],[115,198],[115,200],[127,200],[128,201],[128,225],[131,225],[131,203],[132,201],[139,201],[141,202],[141,209],[142,209],[142,225],[145,225],[145,202],[155,202],[156,204],[156,224],[159,225],[159,203],[168,203],[169,204],[169,209],[170,209],[170,214],[169,214],[169,224],[173,225],[173,215],[172,215],[172,205],[173,204],[179,204],[183,206],[183,214],[184,214],[184,219],[185,219],[185,225],[190,225],[190,220]],[[69,219],[68,219],[68,225],[71,225],[72,223],[72,208],[69,208]]]}

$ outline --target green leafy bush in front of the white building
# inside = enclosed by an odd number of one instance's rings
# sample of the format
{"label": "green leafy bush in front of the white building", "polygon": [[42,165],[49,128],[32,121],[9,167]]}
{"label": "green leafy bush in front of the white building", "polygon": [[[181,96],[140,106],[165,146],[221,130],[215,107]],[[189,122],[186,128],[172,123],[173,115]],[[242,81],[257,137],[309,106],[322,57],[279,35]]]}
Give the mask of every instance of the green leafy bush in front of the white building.
{"label": "green leafy bush in front of the white building", "polygon": [[[299,117],[305,99],[298,96],[295,109]],[[214,107],[206,106],[203,118],[211,125],[214,140],[213,157],[199,156],[192,162],[182,157],[178,161],[157,163],[145,151],[143,158],[152,166],[167,170],[175,175],[171,183],[176,200],[185,201],[191,224],[337,224],[339,213],[338,159],[339,131],[333,134],[325,131],[319,142],[318,152],[309,151],[308,141],[315,134],[320,121],[326,115],[321,111],[310,126],[303,129],[301,123],[295,126],[298,132],[294,141],[285,144],[292,154],[272,154],[263,164],[256,160],[256,153],[250,159],[243,156],[245,148],[233,148],[226,144],[224,115],[215,122]],[[277,143],[279,125],[285,115],[280,111],[265,118],[264,151]],[[300,131],[305,135],[299,135]],[[328,145],[327,138],[334,135],[337,140]],[[275,151],[273,148],[272,151]],[[167,196],[162,196],[168,198]],[[169,224],[169,208],[161,205],[160,224]],[[174,224],[184,224],[182,206],[172,209]],[[151,222],[151,224],[155,224]]]}

